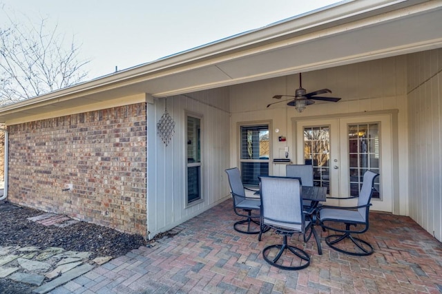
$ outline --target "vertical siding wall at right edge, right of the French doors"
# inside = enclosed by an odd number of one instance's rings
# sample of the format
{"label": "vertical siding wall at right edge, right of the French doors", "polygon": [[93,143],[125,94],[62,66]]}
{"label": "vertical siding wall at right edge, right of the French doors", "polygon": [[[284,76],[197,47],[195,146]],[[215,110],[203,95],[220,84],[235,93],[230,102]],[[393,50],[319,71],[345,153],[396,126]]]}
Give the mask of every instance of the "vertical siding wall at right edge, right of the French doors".
{"label": "vertical siding wall at right edge, right of the French doors", "polygon": [[407,56],[410,216],[442,240],[442,50]]}

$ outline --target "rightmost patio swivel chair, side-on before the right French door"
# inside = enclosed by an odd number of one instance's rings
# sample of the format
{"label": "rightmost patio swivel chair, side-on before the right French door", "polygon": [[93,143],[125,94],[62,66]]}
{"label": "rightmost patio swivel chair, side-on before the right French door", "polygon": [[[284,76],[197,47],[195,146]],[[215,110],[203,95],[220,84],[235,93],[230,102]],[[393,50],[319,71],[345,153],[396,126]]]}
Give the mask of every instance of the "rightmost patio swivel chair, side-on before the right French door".
{"label": "rightmost patio swivel chair, side-on before the right French door", "polygon": [[[354,237],[352,234],[365,233],[369,227],[369,207],[374,190],[374,179],[379,174],[373,171],[365,171],[363,184],[358,197],[356,207],[335,207],[324,205],[318,208],[319,223],[323,229],[337,231],[342,234],[329,235],[325,242],[332,249],[349,255],[365,256],[373,253],[373,246],[365,240]],[[345,224],[345,229],[339,226]],[[350,226],[354,226],[351,229]],[[362,227],[361,227],[362,226]],[[358,229],[359,228],[359,229]],[[353,248],[346,247],[345,240],[350,240]],[[342,242],[342,243],[341,243]],[[340,243],[340,246],[338,246]],[[348,242],[347,242],[348,243]],[[344,245],[343,245],[344,244]]]}

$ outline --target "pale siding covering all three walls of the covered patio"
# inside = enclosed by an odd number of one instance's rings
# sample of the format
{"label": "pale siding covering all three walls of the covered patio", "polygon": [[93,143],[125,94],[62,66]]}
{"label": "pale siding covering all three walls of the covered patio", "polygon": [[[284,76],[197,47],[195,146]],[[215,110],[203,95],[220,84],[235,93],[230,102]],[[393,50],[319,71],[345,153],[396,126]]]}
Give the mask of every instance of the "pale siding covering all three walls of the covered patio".
{"label": "pale siding covering all three walls of the covered patio", "polygon": [[[174,96],[167,108],[175,120],[175,134],[165,147],[156,134],[164,113],[164,99],[148,105],[148,231],[166,231],[229,197],[224,169],[238,166],[238,123],[271,122],[271,152],[281,157],[289,147],[294,158],[296,141],[292,120],[297,118],[362,114],[397,109],[393,122],[394,213],[411,216],[441,240],[441,102],[442,50],[394,56],[352,65],[305,72],[307,92],[329,88],[338,103],[317,101],[304,112],[275,102],[275,94],[294,94],[298,75]],[[186,111],[202,115],[204,202],[184,209],[186,156],[184,120]],[[279,129],[278,134],[274,129]],[[154,130],[154,131],[153,131]],[[273,135],[273,136],[272,136]],[[286,136],[286,142],[278,142]],[[396,156],[395,154],[395,156]],[[274,171],[272,170],[274,169]],[[278,174],[273,165],[271,173]],[[408,183],[408,184],[407,184]]]}

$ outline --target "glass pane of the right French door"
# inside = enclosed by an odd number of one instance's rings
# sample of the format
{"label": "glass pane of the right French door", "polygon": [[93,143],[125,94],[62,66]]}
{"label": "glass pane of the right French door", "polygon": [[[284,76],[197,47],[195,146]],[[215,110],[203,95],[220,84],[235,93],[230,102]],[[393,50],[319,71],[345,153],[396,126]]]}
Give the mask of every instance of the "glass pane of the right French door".
{"label": "glass pane of the right French door", "polygon": [[[348,125],[350,195],[357,197],[368,169],[379,173],[380,141],[378,123]],[[380,198],[379,178],[375,180],[373,198]]]}

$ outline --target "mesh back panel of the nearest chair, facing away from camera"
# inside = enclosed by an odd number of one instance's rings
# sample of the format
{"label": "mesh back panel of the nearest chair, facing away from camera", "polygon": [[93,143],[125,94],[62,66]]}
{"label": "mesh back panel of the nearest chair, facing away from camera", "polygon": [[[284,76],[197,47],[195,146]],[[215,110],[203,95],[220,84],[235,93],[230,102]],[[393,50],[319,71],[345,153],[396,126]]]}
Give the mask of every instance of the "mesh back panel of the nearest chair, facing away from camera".
{"label": "mesh back panel of the nearest chair, facing away from camera", "polygon": [[262,222],[303,233],[301,185],[298,178],[260,177]]}

